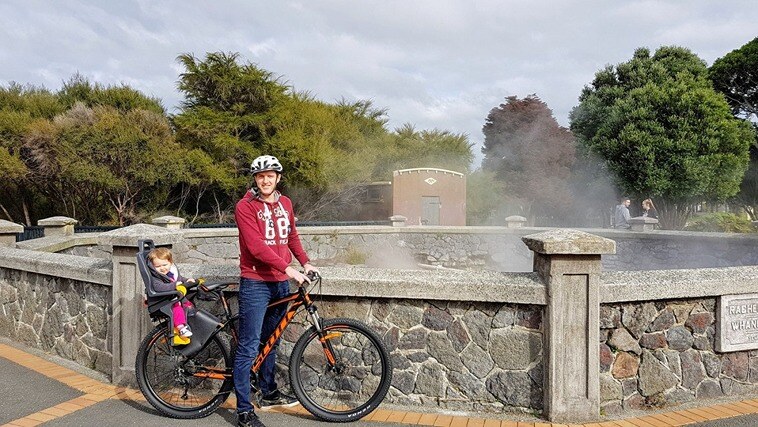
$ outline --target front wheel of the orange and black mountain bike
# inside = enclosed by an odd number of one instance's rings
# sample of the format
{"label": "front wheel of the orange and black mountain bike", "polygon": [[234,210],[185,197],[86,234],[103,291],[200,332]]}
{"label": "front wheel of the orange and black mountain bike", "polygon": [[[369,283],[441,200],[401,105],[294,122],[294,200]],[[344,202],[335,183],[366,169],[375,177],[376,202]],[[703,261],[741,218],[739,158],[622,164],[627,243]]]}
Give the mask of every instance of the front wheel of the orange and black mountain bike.
{"label": "front wheel of the orange and black mountain bike", "polygon": [[330,422],[359,420],[379,406],[392,382],[389,352],[379,335],[355,319],[322,320],[334,350],[327,363],[314,327],[297,340],[289,362],[290,386],[315,417]]}

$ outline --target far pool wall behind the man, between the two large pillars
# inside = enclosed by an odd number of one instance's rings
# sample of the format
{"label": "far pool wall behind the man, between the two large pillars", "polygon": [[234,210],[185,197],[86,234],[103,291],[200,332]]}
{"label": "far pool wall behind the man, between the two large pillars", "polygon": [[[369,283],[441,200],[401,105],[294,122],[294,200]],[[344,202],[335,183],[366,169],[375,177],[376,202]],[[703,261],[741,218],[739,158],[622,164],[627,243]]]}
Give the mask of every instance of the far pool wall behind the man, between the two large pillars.
{"label": "far pool wall behind the man, between the two large pillars", "polygon": [[[418,264],[496,271],[531,271],[521,235],[503,227],[303,227],[301,241],[321,264],[418,268]],[[237,264],[236,229],[186,229],[176,245],[179,262]]]}

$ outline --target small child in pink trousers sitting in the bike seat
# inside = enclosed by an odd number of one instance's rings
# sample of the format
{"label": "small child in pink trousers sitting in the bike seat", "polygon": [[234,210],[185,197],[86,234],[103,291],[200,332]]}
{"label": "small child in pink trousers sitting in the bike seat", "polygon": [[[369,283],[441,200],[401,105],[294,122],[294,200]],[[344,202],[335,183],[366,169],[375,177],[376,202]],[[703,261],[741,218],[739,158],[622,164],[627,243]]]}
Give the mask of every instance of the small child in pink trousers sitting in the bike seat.
{"label": "small child in pink trousers sitting in the bike seat", "polygon": [[[163,278],[153,277],[152,286],[156,292],[166,292],[176,289],[182,294],[186,294],[187,288],[184,284],[195,282],[192,278],[186,278],[179,275],[179,271],[177,270],[176,265],[174,265],[174,257],[168,248],[153,249],[147,254],[147,259],[158,273],[164,275],[170,280],[170,282],[165,282]],[[180,337],[185,339],[192,336],[192,331],[187,324],[187,314],[185,312],[185,310],[190,307],[192,307],[192,303],[185,298],[177,301],[171,307],[174,319],[174,333],[178,333]]]}

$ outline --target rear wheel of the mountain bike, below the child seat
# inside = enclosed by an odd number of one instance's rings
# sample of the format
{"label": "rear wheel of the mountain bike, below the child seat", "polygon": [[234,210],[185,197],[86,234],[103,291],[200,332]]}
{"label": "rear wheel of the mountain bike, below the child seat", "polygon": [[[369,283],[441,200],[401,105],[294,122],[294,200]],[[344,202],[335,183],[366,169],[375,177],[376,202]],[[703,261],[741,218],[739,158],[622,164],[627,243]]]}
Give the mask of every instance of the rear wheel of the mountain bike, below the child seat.
{"label": "rear wheel of the mountain bike, below the child seat", "polygon": [[201,378],[193,373],[204,368],[225,370],[233,360],[227,343],[218,335],[192,358],[169,344],[166,325],[158,325],[142,340],[135,370],[142,395],[158,412],[171,418],[193,419],[212,414],[229,397],[234,384]]}

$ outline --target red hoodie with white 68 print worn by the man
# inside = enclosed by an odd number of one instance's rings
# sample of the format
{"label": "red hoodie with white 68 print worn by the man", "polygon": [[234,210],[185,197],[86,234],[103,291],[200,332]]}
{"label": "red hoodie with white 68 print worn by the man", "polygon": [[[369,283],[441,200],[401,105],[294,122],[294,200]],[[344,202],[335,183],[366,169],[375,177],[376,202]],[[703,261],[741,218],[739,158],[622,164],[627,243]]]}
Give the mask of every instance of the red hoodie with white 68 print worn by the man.
{"label": "red hoodie with white 68 print worn by the man", "polygon": [[234,210],[240,240],[240,274],[246,279],[279,282],[287,280],[284,270],[292,254],[300,265],[308,255],[295,227],[292,201],[274,193],[276,201],[267,203],[247,192]]}

